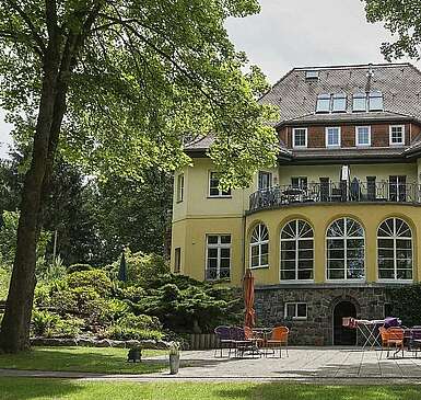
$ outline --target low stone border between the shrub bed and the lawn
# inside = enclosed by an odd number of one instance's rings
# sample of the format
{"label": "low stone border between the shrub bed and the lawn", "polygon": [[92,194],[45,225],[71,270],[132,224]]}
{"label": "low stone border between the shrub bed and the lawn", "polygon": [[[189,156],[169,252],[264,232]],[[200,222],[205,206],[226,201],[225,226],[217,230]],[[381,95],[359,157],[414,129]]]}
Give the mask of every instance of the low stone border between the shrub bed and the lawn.
{"label": "low stone border between the shrub bed and the lawn", "polygon": [[130,341],[115,341],[108,339],[58,339],[58,338],[31,338],[31,345],[33,346],[84,346],[84,347],[118,347],[118,348],[150,348],[150,350],[167,350],[168,343],[164,341],[154,340],[130,340]]}

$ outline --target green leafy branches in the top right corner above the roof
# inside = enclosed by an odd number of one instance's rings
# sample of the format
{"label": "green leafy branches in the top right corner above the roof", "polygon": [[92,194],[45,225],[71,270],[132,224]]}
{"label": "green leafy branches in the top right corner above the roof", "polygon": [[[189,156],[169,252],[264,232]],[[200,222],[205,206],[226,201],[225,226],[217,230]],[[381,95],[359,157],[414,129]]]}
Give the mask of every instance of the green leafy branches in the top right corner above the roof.
{"label": "green leafy branches in the top right corner above the roof", "polygon": [[383,43],[382,53],[388,61],[406,54],[420,59],[421,2],[419,0],[363,0],[367,21],[383,22],[395,36],[394,43]]}

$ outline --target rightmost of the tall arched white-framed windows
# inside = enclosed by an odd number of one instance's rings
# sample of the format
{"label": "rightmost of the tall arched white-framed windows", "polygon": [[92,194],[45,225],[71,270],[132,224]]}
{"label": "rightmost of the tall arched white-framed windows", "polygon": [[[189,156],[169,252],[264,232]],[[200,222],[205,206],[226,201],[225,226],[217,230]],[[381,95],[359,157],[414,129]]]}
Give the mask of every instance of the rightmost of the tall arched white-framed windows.
{"label": "rightmost of the tall arched white-framed windows", "polygon": [[377,231],[379,279],[412,279],[412,232],[400,218],[388,218]]}

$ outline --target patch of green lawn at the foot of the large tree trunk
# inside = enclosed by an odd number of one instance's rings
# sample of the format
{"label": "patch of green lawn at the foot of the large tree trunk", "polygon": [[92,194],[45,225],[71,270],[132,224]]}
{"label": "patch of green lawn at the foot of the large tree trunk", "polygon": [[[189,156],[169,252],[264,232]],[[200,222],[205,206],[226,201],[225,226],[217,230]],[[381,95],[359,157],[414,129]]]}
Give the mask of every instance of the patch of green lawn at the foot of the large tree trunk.
{"label": "patch of green lawn at the foot of the large tree trunk", "polygon": [[[145,361],[127,363],[126,348],[112,347],[33,347],[31,352],[0,354],[0,368],[65,370],[100,374],[148,374],[166,368],[166,363]],[[144,350],[143,357],[163,354]],[[1,399],[1,397],[0,397]]]}

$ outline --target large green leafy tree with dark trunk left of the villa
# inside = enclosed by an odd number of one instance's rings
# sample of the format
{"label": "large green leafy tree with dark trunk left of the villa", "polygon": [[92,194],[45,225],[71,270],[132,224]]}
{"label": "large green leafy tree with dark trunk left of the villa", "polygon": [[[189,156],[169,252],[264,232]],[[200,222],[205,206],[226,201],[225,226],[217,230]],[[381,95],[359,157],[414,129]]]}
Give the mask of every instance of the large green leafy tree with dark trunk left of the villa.
{"label": "large green leafy tree with dark trunk left of the villa", "polygon": [[[222,185],[273,164],[273,110],[258,104],[224,21],[257,0],[3,0],[1,106],[27,130],[17,244],[0,347],[28,347],[36,242],[58,147],[90,173],[141,179],[189,162],[186,137],[212,133]],[[25,129],[24,129],[25,130]]]}

